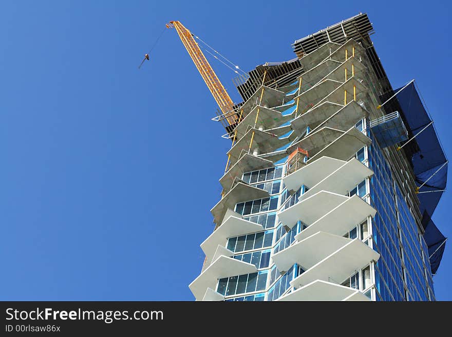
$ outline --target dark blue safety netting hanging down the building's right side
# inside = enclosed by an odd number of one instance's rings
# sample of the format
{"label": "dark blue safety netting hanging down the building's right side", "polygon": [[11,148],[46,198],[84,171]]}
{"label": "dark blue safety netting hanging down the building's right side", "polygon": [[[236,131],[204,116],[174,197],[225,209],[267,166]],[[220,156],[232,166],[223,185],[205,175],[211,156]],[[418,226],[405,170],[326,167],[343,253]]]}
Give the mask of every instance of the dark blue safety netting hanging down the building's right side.
{"label": "dark blue safety netting hanging down the building's right side", "polygon": [[[400,88],[394,90],[394,92],[399,90]],[[431,122],[414,82],[398,93],[396,100],[401,107],[405,126],[410,133],[410,137],[416,135]],[[411,158],[416,184],[421,186],[427,182],[419,190],[419,192],[429,192],[418,194],[419,208],[423,214],[424,240],[428,247],[429,256],[431,255],[431,272],[436,273],[443,256],[445,237],[431,221],[431,215],[441,199],[442,190],[446,188],[447,158],[432,125],[417,135],[415,140],[410,143],[403,150]],[[437,173],[435,174],[435,172]]]}

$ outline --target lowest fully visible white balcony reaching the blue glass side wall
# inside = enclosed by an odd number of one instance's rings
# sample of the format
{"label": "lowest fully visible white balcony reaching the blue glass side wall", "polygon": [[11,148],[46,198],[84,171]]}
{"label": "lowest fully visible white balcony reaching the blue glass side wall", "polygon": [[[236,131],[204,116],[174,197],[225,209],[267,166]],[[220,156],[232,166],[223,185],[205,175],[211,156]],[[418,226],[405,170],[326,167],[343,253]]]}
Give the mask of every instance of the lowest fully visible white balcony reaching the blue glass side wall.
{"label": "lowest fully visible white balcony reaching the blue glass side wall", "polygon": [[342,282],[355,271],[380,258],[380,254],[359,239],[354,239],[290,282],[295,288],[313,281]]}

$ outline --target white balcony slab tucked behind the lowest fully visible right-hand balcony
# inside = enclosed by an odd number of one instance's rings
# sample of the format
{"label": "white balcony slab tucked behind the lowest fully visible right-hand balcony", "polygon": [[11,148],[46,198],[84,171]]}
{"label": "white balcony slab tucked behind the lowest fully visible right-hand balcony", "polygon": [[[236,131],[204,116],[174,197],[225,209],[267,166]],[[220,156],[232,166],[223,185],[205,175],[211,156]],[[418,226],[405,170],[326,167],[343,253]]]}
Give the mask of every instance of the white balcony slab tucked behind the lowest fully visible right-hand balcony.
{"label": "white balcony slab tucked behind the lowest fully visible right-hand balcony", "polygon": [[280,271],[289,270],[295,263],[309,269],[351,241],[343,236],[317,232],[274,254],[272,259]]}

